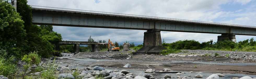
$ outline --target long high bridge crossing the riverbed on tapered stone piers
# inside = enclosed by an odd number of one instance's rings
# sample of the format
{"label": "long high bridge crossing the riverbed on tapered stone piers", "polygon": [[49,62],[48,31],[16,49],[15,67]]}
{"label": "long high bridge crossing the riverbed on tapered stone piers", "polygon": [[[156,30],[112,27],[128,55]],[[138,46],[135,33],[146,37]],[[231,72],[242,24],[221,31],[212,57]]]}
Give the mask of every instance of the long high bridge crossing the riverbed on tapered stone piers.
{"label": "long high bridge crossing the riverbed on tapered stone piers", "polygon": [[229,39],[234,42],[235,35],[256,36],[255,26],[31,6],[33,24],[147,30],[144,33],[144,46],[161,46],[160,31],[221,34],[218,41]]}

